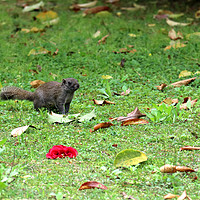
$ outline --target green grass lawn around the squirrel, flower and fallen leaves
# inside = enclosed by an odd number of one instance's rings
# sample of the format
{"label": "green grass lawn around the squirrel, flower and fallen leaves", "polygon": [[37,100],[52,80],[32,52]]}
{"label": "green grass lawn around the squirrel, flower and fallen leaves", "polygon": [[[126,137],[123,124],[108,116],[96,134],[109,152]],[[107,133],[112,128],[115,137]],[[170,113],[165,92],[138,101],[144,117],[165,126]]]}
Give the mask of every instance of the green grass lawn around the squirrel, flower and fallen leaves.
{"label": "green grass lawn around the squirrel, flower and fallen leaves", "polygon": [[[97,123],[108,121],[110,117],[126,116],[136,106],[147,113],[147,108],[152,108],[153,104],[159,104],[167,97],[180,101],[187,96],[198,98],[199,78],[189,86],[167,88],[163,92],[155,86],[181,80],[178,75],[183,70],[199,70],[199,39],[191,38],[184,48],[163,50],[169,45],[167,35],[171,28],[165,20],[153,19],[153,15],[158,9],[164,8],[164,3],[156,7],[148,2],[147,10],[124,11],[120,17],[116,15],[120,9],[114,6],[109,16],[83,17],[81,12],[69,11],[72,1],[44,2],[45,9],[53,9],[58,13],[59,23],[46,28],[44,33],[27,34],[20,29],[43,27],[40,22],[33,20],[38,12],[22,13],[22,8],[16,6],[15,1],[1,3],[0,83],[2,86],[15,85],[33,90],[29,84],[33,80],[47,82],[76,78],[80,82],[80,89],[72,101],[70,113],[86,114],[95,108],[97,117],[84,123],[50,124],[47,112],[36,112],[31,102],[0,101],[0,138],[7,139],[0,163],[2,168],[12,167],[12,171],[18,172],[13,176],[15,179],[2,190],[1,198],[50,199],[53,198],[50,194],[55,193],[57,199],[59,195],[64,195],[66,199],[123,199],[121,193],[125,192],[136,199],[155,200],[163,199],[168,193],[180,195],[186,190],[193,200],[198,199],[199,153],[180,151],[179,148],[199,146],[199,102],[191,110],[185,110],[182,120],[175,123],[150,121],[148,125],[118,125],[93,133],[89,130]],[[122,5],[131,6],[131,3],[124,1]],[[177,19],[181,22],[194,17],[196,11],[167,9],[176,13],[185,12],[181,19]],[[148,24],[155,26],[149,27]],[[93,38],[97,30],[101,31],[101,35]],[[199,21],[191,26],[176,27],[175,30],[184,36],[197,32]],[[130,33],[136,37],[130,37]],[[98,40],[107,34],[106,43],[98,45]],[[113,53],[120,48],[128,48],[127,45],[134,45],[132,48],[137,52]],[[51,52],[59,49],[59,52],[56,56],[28,56],[30,50],[36,47],[44,47]],[[121,67],[119,63],[123,58],[126,62]],[[42,67],[41,72],[38,65]],[[116,105],[94,105],[92,99],[102,99],[99,96],[99,89],[104,87],[102,75],[113,77],[109,80],[111,92],[121,93],[124,88],[130,88],[130,94],[110,96],[109,100]],[[17,138],[10,137],[14,128],[25,125],[33,125],[36,129],[30,129],[30,132]],[[49,149],[59,144],[76,148],[79,153],[77,158],[46,159]],[[113,144],[117,144],[117,147],[113,147]],[[113,166],[116,154],[130,148],[143,151],[148,160],[136,167],[116,170]],[[197,171],[162,174],[159,168],[164,164],[188,166]],[[195,176],[197,180],[194,180]],[[106,185],[108,190],[78,191],[86,181],[98,181]]]}

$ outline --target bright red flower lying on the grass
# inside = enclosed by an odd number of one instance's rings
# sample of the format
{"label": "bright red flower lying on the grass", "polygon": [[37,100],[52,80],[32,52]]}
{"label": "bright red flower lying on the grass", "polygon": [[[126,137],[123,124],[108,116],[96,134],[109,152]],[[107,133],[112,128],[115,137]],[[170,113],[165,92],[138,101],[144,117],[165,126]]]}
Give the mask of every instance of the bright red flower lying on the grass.
{"label": "bright red flower lying on the grass", "polygon": [[46,157],[50,159],[64,158],[66,156],[68,156],[69,158],[73,158],[76,157],[77,155],[78,155],[77,150],[72,147],[55,145],[51,149],[49,149],[49,153],[46,154]]}

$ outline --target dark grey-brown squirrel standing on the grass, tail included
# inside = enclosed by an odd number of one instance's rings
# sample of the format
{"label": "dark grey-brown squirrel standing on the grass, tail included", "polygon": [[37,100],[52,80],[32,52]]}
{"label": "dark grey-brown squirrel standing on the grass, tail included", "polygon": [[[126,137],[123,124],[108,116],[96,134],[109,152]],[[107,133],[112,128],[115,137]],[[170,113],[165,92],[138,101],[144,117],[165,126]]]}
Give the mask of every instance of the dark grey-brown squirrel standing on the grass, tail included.
{"label": "dark grey-brown squirrel standing on the grass, tail included", "polygon": [[50,81],[40,85],[35,92],[29,92],[14,86],[2,88],[0,97],[3,100],[19,99],[33,101],[34,108],[56,108],[60,113],[69,111],[74,92],[79,88],[79,83],[74,78],[66,78],[62,83]]}

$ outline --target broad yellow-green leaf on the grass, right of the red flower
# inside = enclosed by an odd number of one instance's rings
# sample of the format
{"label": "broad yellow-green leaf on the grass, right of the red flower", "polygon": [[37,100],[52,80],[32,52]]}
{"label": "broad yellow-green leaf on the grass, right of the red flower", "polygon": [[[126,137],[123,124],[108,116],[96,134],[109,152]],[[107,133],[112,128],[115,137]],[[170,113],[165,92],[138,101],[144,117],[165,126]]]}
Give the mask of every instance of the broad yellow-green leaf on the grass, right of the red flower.
{"label": "broad yellow-green leaf on the grass, right of the red flower", "polygon": [[129,167],[146,160],[147,156],[143,152],[133,149],[125,149],[117,154],[114,160],[114,166]]}

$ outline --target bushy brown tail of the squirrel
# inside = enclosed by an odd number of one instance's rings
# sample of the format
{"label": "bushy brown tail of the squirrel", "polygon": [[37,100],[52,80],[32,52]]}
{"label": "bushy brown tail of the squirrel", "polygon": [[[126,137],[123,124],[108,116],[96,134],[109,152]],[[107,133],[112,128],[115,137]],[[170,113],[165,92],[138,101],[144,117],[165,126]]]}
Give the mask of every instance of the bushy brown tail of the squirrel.
{"label": "bushy brown tail of the squirrel", "polygon": [[7,86],[7,87],[2,88],[0,97],[3,100],[19,99],[19,100],[33,101],[34,100],[34,93],[23,90],[23,89],[18,88],[18,87]]}

